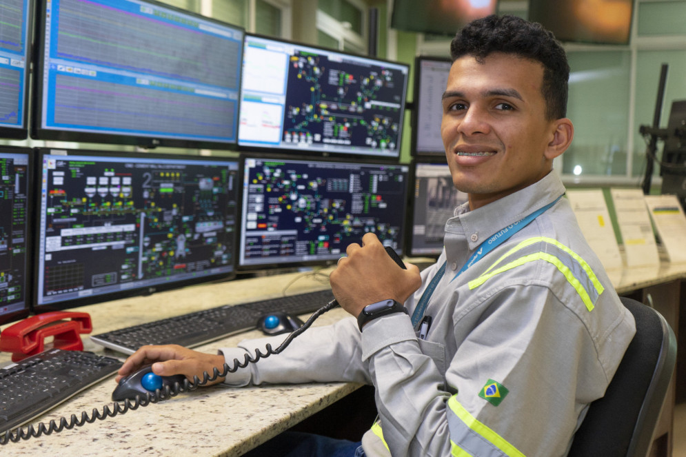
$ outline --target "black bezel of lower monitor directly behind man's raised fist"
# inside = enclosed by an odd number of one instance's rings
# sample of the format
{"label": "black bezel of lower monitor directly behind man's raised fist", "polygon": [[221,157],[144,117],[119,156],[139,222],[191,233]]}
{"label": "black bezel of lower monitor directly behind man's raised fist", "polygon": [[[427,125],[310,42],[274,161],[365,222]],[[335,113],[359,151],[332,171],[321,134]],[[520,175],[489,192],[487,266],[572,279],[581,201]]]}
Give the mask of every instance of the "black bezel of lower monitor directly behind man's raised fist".
{"label": "black bezel of lower monitor directly behind man's raised fist", "polygon": [[[239,276],[241,274],[250,274],[254,272],[259,272],[259,271],[270,271],[270,272],[276,272],[278,270],[293,270],[293,269],[298,269],[301,267],[330,267],[338,261],[337,258],[327,258],[327,259],[316,259],[316,260],[311,260],[311,261],[292,261],[292,262],[279,262],[279,263],[260,263],[260,264],[249,264],[249,265],[241,265],[241,249],[242,249],[242,239],[243,239],[243,196],[245,194],[245,186],[243,185],[243,178],[245,176],[245,160],[246,159],[261,159],[261,160],[274,160],[274,161],[310,161],[310,162],[334,162],[334,163],[354,163],[354,164],[359,164],[359,165],[380,165],[384,167],[392,166],[392,167],[407,167],[407,173],[406,173],[406,182],[407,185],[405,185],[405,196],[404,196],[404,205],[402,208],[403,212],[403,218],[407,217],[407,201],[410,196],[410,172],[411,172],[411,167],[407,163],[389,163],[385,161],[362,161],[362,160],[350,160],[350,157],[347,157],[347,160],[341,158],[341,157],[312,157],[312,156],[283,156],[283,155],[278,155],[278,154],[245,154],[241,153],[241,189],[240,189],[240,196],[239,196],[239,219],[241,220],[241,227],[239,227],[239,234],[236,236],[236,270]],[[396,253],[399,254],[400,256],[403,255],[403,252],[405,250],[405,219],[403,219],[403,223],[401,223],[400,226],[401,230],[401,236],[398,241],[398,247],[399,249],[396,249]],[[360,243],[362,240],[359,241]],[[341,252],[341,256],[344,256],[345,252]]]}

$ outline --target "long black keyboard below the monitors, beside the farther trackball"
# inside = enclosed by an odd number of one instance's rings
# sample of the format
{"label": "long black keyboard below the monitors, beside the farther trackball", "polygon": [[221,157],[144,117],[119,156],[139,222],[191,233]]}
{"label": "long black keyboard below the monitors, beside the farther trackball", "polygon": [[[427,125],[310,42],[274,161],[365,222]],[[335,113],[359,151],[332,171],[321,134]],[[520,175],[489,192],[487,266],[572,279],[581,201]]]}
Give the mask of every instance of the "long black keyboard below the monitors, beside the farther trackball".
{"label": "long black keyboard below the monitors, beside the farther trackball", "polygon": [[330,289],[267,300],[223,305],[90,336],[91,341],[124,354],[144,345],[176,344],[195,347],[254,329],[264,314],[283,311],[297,315],[316,311],[334,298]]}

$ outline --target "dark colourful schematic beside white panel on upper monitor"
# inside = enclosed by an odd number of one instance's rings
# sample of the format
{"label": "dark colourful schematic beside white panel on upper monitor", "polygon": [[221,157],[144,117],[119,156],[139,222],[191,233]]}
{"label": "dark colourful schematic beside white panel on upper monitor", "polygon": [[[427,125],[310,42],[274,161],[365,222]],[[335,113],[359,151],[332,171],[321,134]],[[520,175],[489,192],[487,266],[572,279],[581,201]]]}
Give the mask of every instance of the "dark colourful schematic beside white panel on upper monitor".
{"label": "dark colourful schematic beside white panel on upper monitor", "polygon": [[396,149],[404,80],[399,70],[296,52],[288,70],[283,142]]}

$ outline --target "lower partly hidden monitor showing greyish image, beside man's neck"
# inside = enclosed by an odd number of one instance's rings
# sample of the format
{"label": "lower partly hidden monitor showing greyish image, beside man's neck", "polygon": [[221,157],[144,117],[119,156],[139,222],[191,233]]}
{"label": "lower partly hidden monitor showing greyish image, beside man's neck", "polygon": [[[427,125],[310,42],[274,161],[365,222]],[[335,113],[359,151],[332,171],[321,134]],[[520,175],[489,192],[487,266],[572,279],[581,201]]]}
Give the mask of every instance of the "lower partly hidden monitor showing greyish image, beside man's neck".
{"label": "lower partly hidden monitor showing greyish image, beside man's neck", "polygon": [[412,196],[407,221],[407,255],[438,257],[443,251],[445,221],[467,194],[455,189],[445,159],[412,163]]}

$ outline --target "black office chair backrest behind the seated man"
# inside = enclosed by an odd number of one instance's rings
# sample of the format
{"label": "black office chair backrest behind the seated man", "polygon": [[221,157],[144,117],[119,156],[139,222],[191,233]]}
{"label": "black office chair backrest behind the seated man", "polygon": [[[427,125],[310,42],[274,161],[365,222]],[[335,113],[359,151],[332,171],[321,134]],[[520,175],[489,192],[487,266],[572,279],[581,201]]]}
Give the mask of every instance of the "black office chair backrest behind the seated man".
{"label": "black office chair backrest behind the seated man", "polygon": [[655,309],[621,297],[636,335],[607,387],[591,403],[568,457],[645,457],[676,364],[676,337]]}

